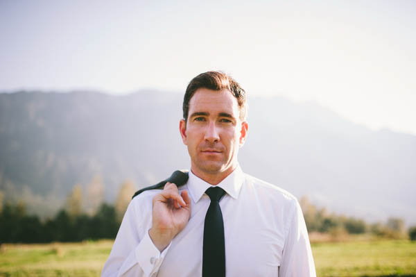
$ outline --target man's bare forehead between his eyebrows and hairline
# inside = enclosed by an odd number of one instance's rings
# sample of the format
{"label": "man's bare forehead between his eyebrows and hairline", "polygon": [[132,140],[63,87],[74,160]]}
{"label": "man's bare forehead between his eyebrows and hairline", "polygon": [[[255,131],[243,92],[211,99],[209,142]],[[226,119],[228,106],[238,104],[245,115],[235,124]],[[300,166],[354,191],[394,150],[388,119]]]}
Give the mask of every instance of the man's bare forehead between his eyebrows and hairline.
{"label": "man's bare forehead between his eyebrows and hairline", "polygon": [[200,88],[196,90],[189,101],[189,115],[193,112],[208,112],[209,114],[227,112],[234,117],[238,117],[239,103],[232,92],[227,89],[209,90]]}

